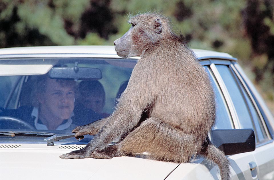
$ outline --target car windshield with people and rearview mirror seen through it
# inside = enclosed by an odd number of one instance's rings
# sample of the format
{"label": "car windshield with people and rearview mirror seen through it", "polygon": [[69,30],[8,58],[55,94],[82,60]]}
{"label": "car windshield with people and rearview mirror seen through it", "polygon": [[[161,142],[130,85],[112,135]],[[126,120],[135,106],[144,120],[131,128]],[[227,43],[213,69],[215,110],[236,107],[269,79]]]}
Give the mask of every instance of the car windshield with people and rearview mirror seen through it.
{"label": "car windshield with people and rearview mirror seen through it", "polygon": [[[70,133],[76,126],[106,118],[135,64],[136,60],[117,58],[0,60],[0,131]],[[75,74],[83,68],[86,78],[60,76],[64,72],[53,78],[55,67],[72,72],[74,68]],[[101,76],[89,78],[95,68]]]}

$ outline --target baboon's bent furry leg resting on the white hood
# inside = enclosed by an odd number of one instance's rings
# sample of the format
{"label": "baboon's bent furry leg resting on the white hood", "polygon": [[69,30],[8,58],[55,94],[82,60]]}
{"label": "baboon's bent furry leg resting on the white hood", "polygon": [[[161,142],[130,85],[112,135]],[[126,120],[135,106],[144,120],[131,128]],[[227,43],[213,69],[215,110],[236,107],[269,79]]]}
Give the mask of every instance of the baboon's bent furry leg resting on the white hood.
{"label": "baboon's bent furry leg resting on the white hood", "polygon": [[170,162],[188,162],[202,146],[193,135],[186,134],[159,118],[148,118],[118,143],[116,155],[148,153],[146,158]]}

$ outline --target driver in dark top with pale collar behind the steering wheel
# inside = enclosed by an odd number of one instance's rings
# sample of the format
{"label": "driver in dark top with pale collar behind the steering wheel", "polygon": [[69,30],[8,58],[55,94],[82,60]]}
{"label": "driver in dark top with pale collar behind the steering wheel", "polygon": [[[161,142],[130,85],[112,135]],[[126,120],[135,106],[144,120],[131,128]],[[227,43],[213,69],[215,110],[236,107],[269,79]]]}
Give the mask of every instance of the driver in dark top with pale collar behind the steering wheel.
{"label": "driver in dark top with pale collar behind the steering wheel", "polygon": [[[38,76],[33,92],[33,106],[6,110],[0,116],[24,120],[37,130],[69,130],[72,124],[75,88],[74,80],[57,80],[48,74]],[[30,90],[31,91],[31,90]]]}

